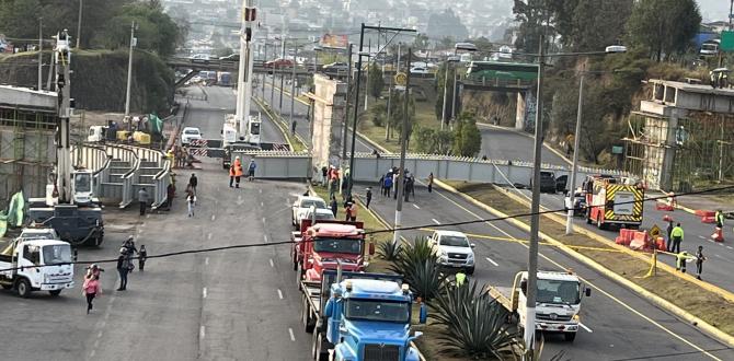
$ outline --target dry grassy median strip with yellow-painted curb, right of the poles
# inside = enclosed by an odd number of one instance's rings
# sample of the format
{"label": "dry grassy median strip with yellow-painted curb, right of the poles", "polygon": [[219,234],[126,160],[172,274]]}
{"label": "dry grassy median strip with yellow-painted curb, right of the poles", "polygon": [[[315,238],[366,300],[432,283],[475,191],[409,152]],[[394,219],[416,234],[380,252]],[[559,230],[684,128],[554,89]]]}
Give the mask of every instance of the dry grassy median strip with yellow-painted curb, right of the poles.
{"label": "dry grassy median strip with yellow-painted curb, right of the poles", "polygon": [[[508,197],[506,191],[491,184],[437,180],[436,185],[495,217],[528,212],[525,201]],[[651,254],[621,251],[611,241],[589,235],[589,231],[566,235],[564,224],[553,219],[553,216],[541,216],[541,252],[544,247],[559,248],[724,345],[734,347],[734,337],[731,336],[734,334],[734,302],[726,291],[716,291],[710,284],[676,272],[667,265],[651,261]],[[508,222],[529,231],[529,217],[511,217]]]}

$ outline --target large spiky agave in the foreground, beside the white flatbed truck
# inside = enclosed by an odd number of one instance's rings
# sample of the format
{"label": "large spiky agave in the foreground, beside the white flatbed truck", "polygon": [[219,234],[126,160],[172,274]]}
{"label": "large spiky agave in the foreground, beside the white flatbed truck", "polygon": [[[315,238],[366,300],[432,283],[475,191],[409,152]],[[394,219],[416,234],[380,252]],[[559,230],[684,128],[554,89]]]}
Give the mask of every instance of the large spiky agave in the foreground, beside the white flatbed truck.
{"label": "large spiky agave in the foreground, beside the white flatbed truck", "polygon": [[517,327],[506,324],[509,312],[475,281],[441,292],[431,317],[443,326],[440,343],[457,354],[505,360],[516,356]]}

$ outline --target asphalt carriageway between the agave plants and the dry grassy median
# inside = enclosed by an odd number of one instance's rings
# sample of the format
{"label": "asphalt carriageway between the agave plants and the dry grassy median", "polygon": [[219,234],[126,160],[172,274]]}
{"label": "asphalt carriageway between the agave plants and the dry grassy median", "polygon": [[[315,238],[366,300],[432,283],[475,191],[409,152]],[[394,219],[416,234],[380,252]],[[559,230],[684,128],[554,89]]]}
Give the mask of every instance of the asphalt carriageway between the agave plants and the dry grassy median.
{"label": "asphalt carriageway between the agave plants and the dry grassy median", "polygon": [[[362,185],[364,186],[364,185]],[[358,187],[362,191],[363,187]],[[492,218],[486,211],[467,203],[443,190],[416,190],[417,198],[404,205],[404,226],[437,224]],[[382,198],[377,191],[372,201],[382,218],[392,223],[394,200]],[[526,269],[527,247],[508,238],[528,240],[529,235],[505,222],[474,223],[450,226],[449,230],[485,237],[473,237],[477,270],[473,279],[501,288],[511,288],[516,272]],[[405,232],[408,240],[426,236],[429,231]],[[541,246],[540,269],[574,269],[593,294],[582,306],[582,329],[573,343],[550,335],[543,351],[550,358],[564,351],[571,360],[731,360],[734,351],[709,338],[696,328],[678,321],[644,299],[606,279],[594,270],[552,247]],[[723,350],[722,350],[723,349]],[[721,350],[721,351],[713,351]],[[703,352],[703,351],[708,351]]]}

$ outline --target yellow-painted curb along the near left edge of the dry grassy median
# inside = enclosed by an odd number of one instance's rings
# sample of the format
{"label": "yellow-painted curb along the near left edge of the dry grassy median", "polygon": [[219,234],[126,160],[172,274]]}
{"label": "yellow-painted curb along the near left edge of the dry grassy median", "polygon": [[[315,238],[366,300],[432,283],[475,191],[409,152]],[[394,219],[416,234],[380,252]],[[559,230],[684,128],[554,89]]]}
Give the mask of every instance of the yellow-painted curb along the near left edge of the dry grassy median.
{"label": "yellow-painted curb along the near left edge of the dry grassy median", "polygon": [[[434,183],[437,186],[441,187],[443,189],[461,197],[462,199],[473,203],[474,206],[477,206],[479,208],[482,208],[482,209],[486,210],[488,212],[494,214],[495,217],[501,217],[501,218],[507,218],[508,217],[508,214],[505,214],[504,212],[502,212],[497,209],[494,209],[494,208],[474,199],[471,196],[468,196],[468,195],[457,190],[456,188],[454,188],[454,187],[451,187],[451,186],[449,186],[449,185],[447,185],[447,184],[445,184],[445,183],[443,183],[438,179],[435,179]],[[526,232],[530,231],[530,226],[528,224],[526,224],[524,222],[520,222],[516,219],[508,218],[506,221],[514,224],[515,226],[526,231]],[[605,268],[604,266],[597,264],[595,260],[593,260],[593,259],[573,251],[572,248],[570,248],[565,244],[561,243],[560,241],[558,241],[553,237],[550,237],[542,232],[539,232],[539,236],[542,240],[544,240],[546,242],[557,246],[559,249],[563,251],[563,253],[567,254],[569,256],[573,257],[574,259],[581,261],[582,264],[584,264],[587,267],[596,270],[597,272],[604,275],[605,277],[616,281],[617,283],[630,289],[631,291],[638,293],[640,296],[642,296],[645,300],[647,300],[649,302],[657,305],[658,307],[670,312],[672,314],[678,316],[681,319],[685,319],[691,326],[699,328],[701,331],[704,331],[706,334],[708,334],[711,337],[718,339],[719,341],[726,345],[727,347],[734,347],[734,337],[732,337],[731,335],[729,335],[729,334],[720,330],[719,328],[710,325],[709,323],[704,322],[703,319],[700,319],[700,318],[693,316],[692,314],[690,314],[687,311],[676,306],[675,304],[664,300],[663,298],[643,289],[642,287],[635,284],[634,282],[632,282],[632,281],[617,275],[616,272]]]}

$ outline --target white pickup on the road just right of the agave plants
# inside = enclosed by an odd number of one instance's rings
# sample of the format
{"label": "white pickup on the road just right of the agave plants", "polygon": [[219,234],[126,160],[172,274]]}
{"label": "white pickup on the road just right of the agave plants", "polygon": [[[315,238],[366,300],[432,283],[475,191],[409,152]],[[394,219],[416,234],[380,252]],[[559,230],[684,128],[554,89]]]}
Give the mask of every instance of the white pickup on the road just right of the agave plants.
{"label": "white pickup on the road just right of the agave plants", "polygon": [[474,244],[466,234],[456,231],[435,231],[429,237],[431,246],[438,255],[438,264],[447,268],[461,268],[467,275],[474,273]]}

